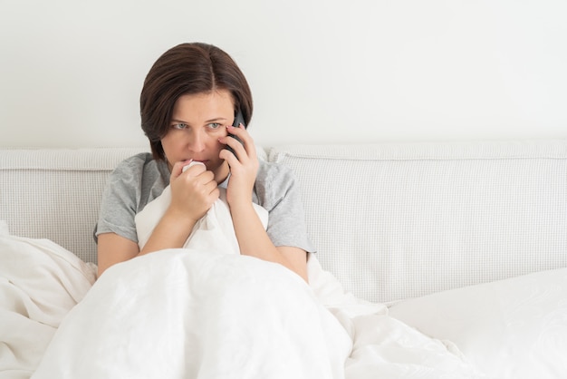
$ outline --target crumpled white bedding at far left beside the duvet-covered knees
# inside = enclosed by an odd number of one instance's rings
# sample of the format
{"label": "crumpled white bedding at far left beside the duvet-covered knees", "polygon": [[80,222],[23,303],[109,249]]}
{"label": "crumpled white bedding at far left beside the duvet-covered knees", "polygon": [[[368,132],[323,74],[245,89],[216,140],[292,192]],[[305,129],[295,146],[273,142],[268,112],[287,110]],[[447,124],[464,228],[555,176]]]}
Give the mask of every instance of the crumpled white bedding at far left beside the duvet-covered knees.
{"label": "crumpled white bedding at far left beside the duvet-covered knees", "polygon": [[96,267],[47,239],[9,234],[0,220],[0,379],[27,379]]}

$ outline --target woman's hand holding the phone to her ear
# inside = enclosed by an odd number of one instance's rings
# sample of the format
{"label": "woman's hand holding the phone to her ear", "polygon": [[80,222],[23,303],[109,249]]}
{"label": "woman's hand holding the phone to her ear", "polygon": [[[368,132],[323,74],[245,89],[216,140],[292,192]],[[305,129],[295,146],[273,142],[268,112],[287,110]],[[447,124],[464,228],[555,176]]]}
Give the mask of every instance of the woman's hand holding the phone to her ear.
{"label": "woman's hand holding the phone to her ear", "polygon": [[219,153],[219,157],[226,160],[230,166],[230,180],[226,189],[226,201],[232,208],[236,204],[252,203],[252,190],[258,172],[258,158],[255,143],[248,131],[242,126],[226,126],[229,134],[234,134],[242,143],[227,135],[219,141],[230,146],[233,154],[226,149]]}

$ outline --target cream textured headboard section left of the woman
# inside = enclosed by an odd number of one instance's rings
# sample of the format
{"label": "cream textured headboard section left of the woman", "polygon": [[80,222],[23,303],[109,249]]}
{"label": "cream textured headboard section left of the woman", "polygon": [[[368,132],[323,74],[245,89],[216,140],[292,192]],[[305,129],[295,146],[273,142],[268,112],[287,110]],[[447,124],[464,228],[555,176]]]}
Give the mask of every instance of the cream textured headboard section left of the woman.
{"label": "cream textured headboard section left of the woman", "polygon": [[48,238],[95,262],[101,192],[120,160],[139,151],[0,150],[0,219],[15,236]]}

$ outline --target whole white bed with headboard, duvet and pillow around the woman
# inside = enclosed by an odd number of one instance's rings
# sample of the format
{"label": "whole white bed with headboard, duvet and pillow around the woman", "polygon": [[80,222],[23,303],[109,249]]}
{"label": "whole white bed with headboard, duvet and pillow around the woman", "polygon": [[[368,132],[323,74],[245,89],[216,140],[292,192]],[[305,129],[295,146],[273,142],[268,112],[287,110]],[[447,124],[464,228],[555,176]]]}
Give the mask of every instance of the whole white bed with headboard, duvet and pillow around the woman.
{"label": "whole white bed with headboard, duvet and pillow around the woman", "polygon": [[266,151],[303,189],[310,286],[214,228],[95,282],[101,189],[137,151],[0,151],[0,378],[567,374],[564,141]]}

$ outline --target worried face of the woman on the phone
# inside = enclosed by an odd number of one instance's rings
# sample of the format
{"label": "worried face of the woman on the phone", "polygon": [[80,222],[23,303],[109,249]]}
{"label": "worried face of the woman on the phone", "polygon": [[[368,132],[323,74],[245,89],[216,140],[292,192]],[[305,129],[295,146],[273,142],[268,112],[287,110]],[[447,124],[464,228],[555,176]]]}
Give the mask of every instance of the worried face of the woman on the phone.
{"label": "worried face of the woman on the phone", "polygon": [[228,163],[218,158],[225,145],[218,139],[226,136],[226,125],[232,124],[234,118],[232,96],[226,90],[179,97],[169,131],[161,139],[169,170],[179,160],[197,160],[215,173],[216,182],[225,180]]}

